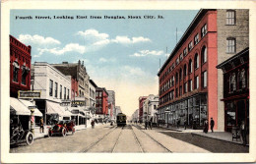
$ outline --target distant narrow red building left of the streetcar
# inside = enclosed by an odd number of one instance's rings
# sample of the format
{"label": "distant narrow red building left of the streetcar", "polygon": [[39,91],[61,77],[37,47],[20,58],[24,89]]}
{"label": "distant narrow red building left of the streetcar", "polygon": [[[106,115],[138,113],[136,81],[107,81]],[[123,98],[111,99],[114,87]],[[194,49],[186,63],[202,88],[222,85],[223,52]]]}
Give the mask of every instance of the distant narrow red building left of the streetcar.
{"label": "distant narrow red building left of the streetcar", "polygon": [[106,116],[108,114],[108,93],[104,87],[96,87],[96,114]]}

